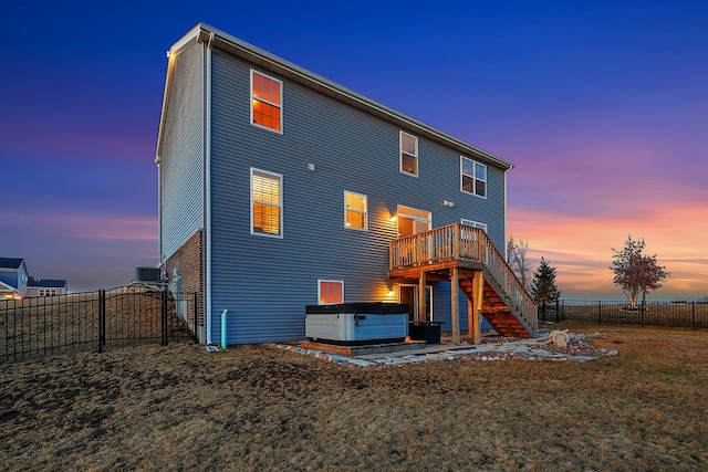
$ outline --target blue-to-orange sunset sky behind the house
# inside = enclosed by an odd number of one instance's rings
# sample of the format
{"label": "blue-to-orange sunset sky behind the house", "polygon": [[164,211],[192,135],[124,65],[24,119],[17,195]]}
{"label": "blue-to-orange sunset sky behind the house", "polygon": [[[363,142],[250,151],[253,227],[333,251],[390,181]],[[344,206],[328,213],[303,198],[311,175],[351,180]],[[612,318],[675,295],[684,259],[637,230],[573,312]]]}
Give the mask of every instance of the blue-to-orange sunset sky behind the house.
{"label": "blue-to-orange sunset sky behind the house", "polygon": [[622,300],[629,233],[650,300],[708,296],[705,0],[212,3],[0,9],[0,256],[74,292],[156,264],[165,52],[204,21],[514,162],[509,235],[564,298]]}

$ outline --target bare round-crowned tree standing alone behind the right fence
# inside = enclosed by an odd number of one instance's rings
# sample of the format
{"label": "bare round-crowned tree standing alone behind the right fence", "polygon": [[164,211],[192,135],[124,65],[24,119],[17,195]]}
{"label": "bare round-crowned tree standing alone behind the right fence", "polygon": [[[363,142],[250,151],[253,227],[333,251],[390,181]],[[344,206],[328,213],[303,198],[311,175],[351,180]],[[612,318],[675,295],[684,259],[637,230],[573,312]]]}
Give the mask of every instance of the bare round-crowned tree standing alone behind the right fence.
{"label": "bare round-crowned tree standing alone behind the right fence", "polygon": [[637,307],[639,293],[644,305],[646,293],[660,289],[662,282],[670,275],[669,272],[666,272],[666,268],[658,265],[656,254],[644,255],[642,253],[645,247],[644,240],[635,241],[629,234],[622,251],[612,249],[614,254],[610,269],[615,273],[612,282],[629,297],[631,308]]}

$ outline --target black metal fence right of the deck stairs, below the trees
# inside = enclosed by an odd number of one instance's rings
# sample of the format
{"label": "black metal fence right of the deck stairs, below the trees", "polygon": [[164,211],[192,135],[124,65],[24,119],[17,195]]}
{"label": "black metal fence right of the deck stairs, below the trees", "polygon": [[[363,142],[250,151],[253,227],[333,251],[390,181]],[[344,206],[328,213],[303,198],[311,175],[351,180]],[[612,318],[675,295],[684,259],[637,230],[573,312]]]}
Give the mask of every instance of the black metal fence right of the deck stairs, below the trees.
{"label": "black metal fence right of the deck stairs, below the trees", "polygon": [[539,305],[539,319],[705,329],[708,328],[708,302],[650,302],[631,308],[626,302],[559,300],[546,306]]}

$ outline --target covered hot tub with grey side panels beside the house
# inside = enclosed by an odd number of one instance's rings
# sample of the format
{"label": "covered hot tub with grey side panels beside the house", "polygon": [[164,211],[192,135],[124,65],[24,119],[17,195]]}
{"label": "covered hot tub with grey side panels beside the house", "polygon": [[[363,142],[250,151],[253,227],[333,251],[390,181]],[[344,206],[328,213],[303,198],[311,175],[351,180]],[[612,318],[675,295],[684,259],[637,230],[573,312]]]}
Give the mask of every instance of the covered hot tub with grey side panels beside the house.
{"label": "covered hot tub with grey side panels beside the house", "polygon": [[345,346],[400,343],[408,335],[408,305],[344,303],[305,306],[305,336]]}

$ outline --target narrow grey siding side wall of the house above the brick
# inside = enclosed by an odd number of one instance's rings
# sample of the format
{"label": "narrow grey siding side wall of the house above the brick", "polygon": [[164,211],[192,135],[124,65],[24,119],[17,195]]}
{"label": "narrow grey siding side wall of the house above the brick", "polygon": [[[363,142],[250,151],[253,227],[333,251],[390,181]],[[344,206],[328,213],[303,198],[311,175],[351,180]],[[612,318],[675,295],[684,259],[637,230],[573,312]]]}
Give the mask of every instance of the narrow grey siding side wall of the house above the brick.
{"label": "narrow grey siding side wall of the house above the brick", "polygon": [[159,164],[162,261],[204,225],[204,57],[192,44],[174,59]]}

